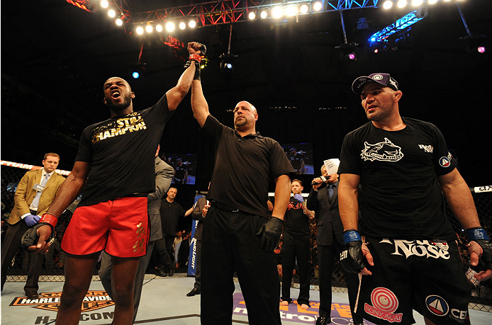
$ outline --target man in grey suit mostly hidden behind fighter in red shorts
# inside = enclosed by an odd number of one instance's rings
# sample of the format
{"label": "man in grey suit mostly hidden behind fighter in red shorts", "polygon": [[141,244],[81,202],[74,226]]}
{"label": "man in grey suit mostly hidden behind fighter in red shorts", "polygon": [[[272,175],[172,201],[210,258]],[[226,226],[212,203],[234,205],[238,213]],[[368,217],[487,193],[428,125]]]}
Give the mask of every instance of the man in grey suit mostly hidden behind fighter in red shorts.
{"label": "man in grey suit mostly hidden behind fighter in red shorts", "polygon": [[[140,304],[140,295],[142,294],[143,280],[145,278],[145,270],[152,256],[152,249],[155,241],[162,239],[162,228],[160,219],[161,199],[171,186],[171,180],[174,176],[172,166],[166,164],[159,158],[160,146],[157,146],[155,153],[155,192],[147,195],[147,212],[150,219],[150,237],[147,253],[140,258],[138,264],[137,275],[135,275],[135,287],[133,289],[133,322],[137,317],[138,305]],[[113,299],[113,291],[111,290],[111,256],[103,251],[101,268],[99,268],[99,278],[103,284],[104,290],[108,292],[109,297]]]}

